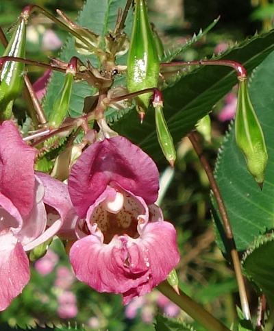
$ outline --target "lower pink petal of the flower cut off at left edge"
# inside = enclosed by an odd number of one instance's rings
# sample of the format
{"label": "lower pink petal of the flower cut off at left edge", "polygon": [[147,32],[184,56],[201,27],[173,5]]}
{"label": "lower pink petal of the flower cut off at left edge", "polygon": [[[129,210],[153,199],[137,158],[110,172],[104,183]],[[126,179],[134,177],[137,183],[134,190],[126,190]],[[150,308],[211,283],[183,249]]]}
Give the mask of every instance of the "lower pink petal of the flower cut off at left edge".
{"label": "lower pink petal of the flower cut off at left edge", "polygon": [[29,282],[29,261],[11,232],[0,233],[0,310],[7,308]]}

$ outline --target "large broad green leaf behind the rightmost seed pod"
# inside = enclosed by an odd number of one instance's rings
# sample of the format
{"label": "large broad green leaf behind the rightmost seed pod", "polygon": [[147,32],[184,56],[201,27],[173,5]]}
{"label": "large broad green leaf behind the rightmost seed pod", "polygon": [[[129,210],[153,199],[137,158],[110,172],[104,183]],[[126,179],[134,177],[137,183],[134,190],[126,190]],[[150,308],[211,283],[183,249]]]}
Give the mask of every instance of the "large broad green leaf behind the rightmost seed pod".
{"label": "large broad green leaf behind the rightmost seed pod", "polygon": [[[253,72],[249,84],[251,102],[262,125],[269,152],[262,191],[247,171],[245,159],[236,147],[233,126],[225,137],[216,162],[216,181],[232,224],[236,247],[240,251],[245,251],[257,236],[274,228],[273,71],[274,52]],[[225,236],[216,209],[214,220],[219,233],[217,243],[225,252]]]}

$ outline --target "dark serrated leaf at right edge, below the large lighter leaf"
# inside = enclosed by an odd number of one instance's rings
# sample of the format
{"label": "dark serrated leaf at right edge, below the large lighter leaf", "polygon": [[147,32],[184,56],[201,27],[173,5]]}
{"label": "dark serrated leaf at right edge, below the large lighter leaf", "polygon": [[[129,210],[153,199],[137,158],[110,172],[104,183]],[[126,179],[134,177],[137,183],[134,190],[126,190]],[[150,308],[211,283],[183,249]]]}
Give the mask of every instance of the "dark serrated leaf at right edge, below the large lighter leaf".
{"label": "dark serrated leaf at right edge, below the large lighter leaf", "polygon": [[266,295],[266,300],[274,309],[274,232],[256,238],[247,250],[242,265],[251,282]]}

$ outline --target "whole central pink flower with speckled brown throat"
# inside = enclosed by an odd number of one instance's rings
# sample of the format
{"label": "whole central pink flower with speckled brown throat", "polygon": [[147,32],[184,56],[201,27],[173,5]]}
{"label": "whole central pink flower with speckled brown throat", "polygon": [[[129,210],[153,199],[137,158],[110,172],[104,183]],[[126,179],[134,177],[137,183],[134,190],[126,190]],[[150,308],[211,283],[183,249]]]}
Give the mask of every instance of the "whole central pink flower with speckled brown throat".
{"label": "whole central pink flower with speckled brown throat", "polygon": [[153,204],[159,174],[153,160],[126,138],[88,147],[69,177],[81,221],[70,259],[76,277],[127,304],[166,279],[179,261],[176,232]]}

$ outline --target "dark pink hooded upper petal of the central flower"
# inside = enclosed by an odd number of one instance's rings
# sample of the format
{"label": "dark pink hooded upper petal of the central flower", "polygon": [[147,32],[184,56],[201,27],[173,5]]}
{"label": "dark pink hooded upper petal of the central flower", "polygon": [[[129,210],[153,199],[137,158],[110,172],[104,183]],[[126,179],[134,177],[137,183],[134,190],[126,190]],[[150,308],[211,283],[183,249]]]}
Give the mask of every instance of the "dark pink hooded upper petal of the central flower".
{"label": "dark pink hooded upper petal of the central flower", "polygon": [[152,204],[158,196],[159,173],[153,160],[138,146],[121,136],[92,144],[79,157],[69,177],[69,193],[80,217],[108,184]]}

